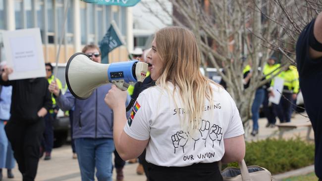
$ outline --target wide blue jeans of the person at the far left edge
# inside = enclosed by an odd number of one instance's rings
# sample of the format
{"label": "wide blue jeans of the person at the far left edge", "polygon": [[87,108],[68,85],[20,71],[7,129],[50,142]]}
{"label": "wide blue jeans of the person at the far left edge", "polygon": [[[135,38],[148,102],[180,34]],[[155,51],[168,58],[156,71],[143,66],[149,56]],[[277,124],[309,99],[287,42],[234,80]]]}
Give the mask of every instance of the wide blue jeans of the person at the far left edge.
{"label": "wide blue jeans of the person at the far left edge", "polygon": [[13,169],[16,161],[11,144],[4,132],[4,121],[0,120],[0,168]]}

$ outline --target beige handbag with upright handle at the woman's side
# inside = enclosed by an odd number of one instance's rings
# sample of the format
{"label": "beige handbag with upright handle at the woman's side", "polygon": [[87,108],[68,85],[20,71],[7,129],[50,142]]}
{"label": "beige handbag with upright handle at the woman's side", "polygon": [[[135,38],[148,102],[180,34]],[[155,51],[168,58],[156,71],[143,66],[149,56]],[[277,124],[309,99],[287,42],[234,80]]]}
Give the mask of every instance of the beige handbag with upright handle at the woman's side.
{"label": "beige handbag with upright handle at the woman's side", "polygon": [[260,166],[246,166],[245,161],[238,163],[239,168],[227,167],[221,171],[223,181],[272,181],[270,172]]}

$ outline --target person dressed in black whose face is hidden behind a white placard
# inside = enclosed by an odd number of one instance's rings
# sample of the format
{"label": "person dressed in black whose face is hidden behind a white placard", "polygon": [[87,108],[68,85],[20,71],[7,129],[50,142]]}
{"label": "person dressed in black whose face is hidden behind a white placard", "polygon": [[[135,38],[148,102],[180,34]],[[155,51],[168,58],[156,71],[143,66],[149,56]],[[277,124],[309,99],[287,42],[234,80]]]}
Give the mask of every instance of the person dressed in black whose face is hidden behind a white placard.
{"label": "person dressed in black whose face is hidden behind a white placard", "polygon": [[45,78],[9,81],[10,73],[12,68],[5,66],[0,76],[0,85],[12,86],[11,116],[4,129],[23,181],[34,181],[45,129],[44,116],[52,107],[49,84]]}

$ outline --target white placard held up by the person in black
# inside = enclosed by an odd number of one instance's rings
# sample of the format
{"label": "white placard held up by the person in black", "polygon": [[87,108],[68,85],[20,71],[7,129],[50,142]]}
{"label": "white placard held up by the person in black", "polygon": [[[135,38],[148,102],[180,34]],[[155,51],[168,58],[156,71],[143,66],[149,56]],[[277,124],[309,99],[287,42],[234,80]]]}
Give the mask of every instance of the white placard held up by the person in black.
{"label": "white placard held up by the person in black", "polygon": [[7,66],[13,69],[9,80],[46,77],[39,28],[3,32]]}

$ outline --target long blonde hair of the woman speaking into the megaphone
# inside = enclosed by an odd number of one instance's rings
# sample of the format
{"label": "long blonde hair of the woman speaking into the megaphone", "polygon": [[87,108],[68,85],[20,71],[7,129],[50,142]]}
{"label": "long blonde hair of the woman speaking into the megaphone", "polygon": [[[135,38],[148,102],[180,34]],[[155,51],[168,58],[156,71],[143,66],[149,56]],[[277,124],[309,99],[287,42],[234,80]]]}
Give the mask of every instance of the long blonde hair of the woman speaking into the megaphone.
{"label": "long blonde hair of the woman speaking into the megaphone", "polygon": [[156,84],[168,90],[166,83],[169,81],[174,85],[174,91],[178,88],[184,112],[188,116],[188,119],[180,119],[181,125],[184,130],[193,134],[201,123],[205,98],[212,102],[211,83],[215,83],[203,76],[199,70],[200,52],[191,31],[182,27],[166,27],[156,33],[155,42],[163,61],[161,76]]}

